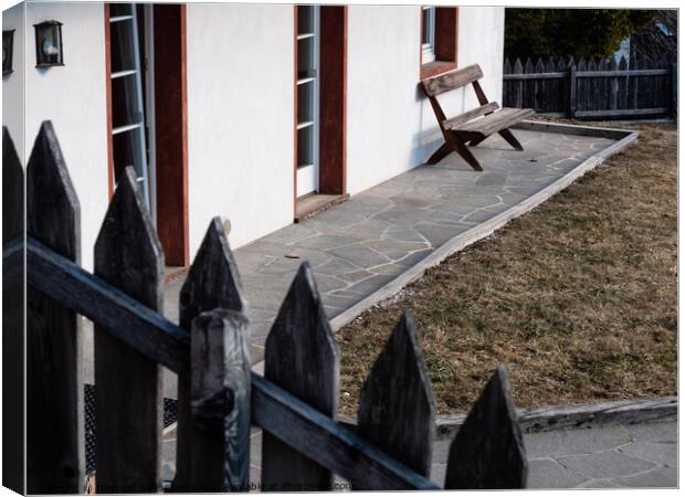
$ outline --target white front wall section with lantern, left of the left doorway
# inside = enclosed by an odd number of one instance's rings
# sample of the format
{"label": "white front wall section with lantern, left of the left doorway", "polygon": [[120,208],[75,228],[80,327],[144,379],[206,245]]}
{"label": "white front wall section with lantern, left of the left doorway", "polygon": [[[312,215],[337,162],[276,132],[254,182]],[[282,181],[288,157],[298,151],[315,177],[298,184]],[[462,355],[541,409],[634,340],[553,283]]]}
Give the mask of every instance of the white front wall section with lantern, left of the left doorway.
{"label": "white front wall section with lantern, left of the left doorway", "polygon": [[[63,23],[64,66],[35,67],[33,24]],[[25,147],[28,158],[44,119],[51,119],[81,203],[82,264],[93,247],[107,193],[107,104],[102,3],[27,3]]]}

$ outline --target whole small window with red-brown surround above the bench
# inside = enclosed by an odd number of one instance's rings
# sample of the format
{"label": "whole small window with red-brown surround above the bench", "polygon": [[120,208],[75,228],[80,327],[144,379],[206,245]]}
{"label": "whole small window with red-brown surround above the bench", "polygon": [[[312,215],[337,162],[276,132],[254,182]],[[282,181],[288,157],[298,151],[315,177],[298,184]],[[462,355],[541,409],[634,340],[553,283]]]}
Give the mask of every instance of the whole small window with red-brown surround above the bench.
{"label": "whole small window with red-brown surround above the bench", "polygon": [[457,29],[459,8],[421,7],[421,80],[456,68]]}

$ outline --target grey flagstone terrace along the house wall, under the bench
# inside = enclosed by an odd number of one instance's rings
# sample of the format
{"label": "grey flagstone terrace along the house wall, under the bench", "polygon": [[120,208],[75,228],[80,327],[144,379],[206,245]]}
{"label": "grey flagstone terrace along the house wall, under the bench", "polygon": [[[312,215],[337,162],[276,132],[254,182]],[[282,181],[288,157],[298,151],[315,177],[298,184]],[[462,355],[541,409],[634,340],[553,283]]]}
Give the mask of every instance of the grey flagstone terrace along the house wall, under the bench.
{"label": "grey flagstone terrace along the house wall, under the bench", "polygon": [[[331,319],[454,236],[516,205],[614,144],[607,138],[516,130],[525,151],[492,137],[473,148],[485,171],[455,154],[392,178],[346,203],[234,251],[252,321],[253,362],[298,268],[308,261]],[[369,165],[373,167],[373,165]],[[297,258],[293,258],[297,257]],[[166,288],[178,319],[182,277]]]}

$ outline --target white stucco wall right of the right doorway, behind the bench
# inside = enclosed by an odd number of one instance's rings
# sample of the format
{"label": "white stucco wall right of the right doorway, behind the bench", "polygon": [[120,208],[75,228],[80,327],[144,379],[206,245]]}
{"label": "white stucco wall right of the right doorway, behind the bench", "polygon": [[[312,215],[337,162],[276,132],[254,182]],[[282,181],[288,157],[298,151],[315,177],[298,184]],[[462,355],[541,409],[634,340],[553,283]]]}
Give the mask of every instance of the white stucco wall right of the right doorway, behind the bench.
{"label": "white stucco wall right of the right doorway, behind the bench", "polygon": [[[500,101],[504,8],[461,7],[459,67],[478,63],[491,101]],[[347,184],[351,194],[422,163],[442,137],[420,80],[418,6],[348,11]],[[446,114],[477,106],[471,87],[439,97]]]}

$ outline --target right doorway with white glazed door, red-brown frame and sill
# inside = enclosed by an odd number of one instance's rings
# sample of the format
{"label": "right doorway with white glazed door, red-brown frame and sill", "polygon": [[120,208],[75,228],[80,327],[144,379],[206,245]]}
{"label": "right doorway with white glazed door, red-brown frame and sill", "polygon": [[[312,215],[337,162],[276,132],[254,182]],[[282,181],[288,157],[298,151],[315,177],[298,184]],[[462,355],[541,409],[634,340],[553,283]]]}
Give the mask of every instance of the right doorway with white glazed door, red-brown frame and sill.
{"label": "right doorway with white glazed door, red-brown frame and sill", "polygon": [[295,6],[295,221],[346,195],[347,8]]}

